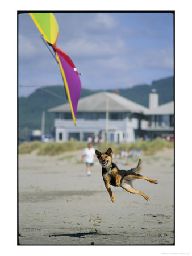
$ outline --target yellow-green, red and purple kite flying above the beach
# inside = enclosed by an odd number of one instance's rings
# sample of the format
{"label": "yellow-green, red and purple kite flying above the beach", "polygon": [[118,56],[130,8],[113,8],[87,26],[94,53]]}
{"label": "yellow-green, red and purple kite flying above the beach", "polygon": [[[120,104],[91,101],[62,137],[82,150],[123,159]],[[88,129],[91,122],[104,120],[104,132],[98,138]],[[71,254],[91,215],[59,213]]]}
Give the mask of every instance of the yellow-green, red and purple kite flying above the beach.
{"label": "yellow-green, red and purple kite flying above the beach", "polygon": [[59,27],[55,16],[52,13],[29,14],[41,32],[45,43],[48,44],[48,46],[51,46],[55,53],[56,60],[61,69],[62,79],[64,80],[66,96],[69,101],[73,121],[76,125],[77,105],[81,93],[80,73],[78,73],[77,68],[70,57],[56,47]]}

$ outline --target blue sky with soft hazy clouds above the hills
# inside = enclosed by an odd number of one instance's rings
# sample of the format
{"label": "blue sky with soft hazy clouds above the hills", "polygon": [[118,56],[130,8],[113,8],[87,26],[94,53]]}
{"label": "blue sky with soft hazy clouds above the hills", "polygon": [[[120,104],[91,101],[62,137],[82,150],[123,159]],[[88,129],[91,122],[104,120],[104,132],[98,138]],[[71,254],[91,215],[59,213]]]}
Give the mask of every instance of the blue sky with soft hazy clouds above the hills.
{"label": "blue sky with soft hazy clouds above the hills", "polygon": [[[174,15],[166,12],[54,13],[57,47],[82,88],[130,88],[174,75]],[[28,13],[18,15],[18,94],[63,85],[60,69]]]}

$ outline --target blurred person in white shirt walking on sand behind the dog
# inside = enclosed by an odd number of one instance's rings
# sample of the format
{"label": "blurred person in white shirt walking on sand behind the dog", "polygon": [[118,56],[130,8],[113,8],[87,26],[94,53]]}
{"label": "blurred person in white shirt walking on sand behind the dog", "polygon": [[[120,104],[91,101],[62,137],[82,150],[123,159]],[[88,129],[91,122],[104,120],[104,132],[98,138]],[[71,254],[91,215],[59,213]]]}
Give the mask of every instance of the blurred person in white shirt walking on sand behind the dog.
{"label": "blurred person in white shirt walking on sand behind the dog", "polygon": [[83,151],[81,159],[81,162],[85,162],[86,164],[86,171],[88,177],[91,175],[91,166],[93,166],[94,163],[94,156],[95,150],[94,148],[92,148],[92,144],[88,143],[88,147],[85,148],[85,150]]}

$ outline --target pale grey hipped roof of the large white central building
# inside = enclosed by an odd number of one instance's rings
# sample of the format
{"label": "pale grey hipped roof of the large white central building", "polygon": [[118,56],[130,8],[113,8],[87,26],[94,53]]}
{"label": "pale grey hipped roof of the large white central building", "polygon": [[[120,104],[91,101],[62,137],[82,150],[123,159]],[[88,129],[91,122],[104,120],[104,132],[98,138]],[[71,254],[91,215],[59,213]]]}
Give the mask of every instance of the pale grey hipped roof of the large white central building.
{"label": "pale grey hipped roof of the large white central building", "polygon": [[[98,92],[81,98],[78,102],[77,112],[106,112],[106,98],[109,102],[110,112],[133,112],[147,114],[148,108],[137,104],[116,93]],[[49,112],[70,112],[69,104],[63,104],[49,109]]]}

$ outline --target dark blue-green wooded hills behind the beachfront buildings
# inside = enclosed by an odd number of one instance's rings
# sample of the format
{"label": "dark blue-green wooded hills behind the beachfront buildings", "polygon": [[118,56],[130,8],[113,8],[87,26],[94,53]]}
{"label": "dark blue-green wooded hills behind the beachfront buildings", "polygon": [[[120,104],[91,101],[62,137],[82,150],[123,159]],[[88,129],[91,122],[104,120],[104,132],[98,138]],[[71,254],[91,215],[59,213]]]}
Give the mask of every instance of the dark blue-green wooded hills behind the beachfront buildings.
{"label": "dark blue-green wooded hills behind the beachfront buildings", "polygon": [[[136,85],[132,88],[118,90],[121,96],[148,107],[149,93],[152,89],[157,90],[160,105],[174,100],[173,77],[153,81],[151,85]],[[113,92],[113,90],[107,91]],[[98,91],[82,88],[81,98],[96,92]],[[27,138],[28,135],[31,134],[32,130],[41,129],[41,115],[43,111],[46,112],[45,133],[53,131],[54,114],[48,113],[47,110],[54,106],[64,104],[65,102],[67,101],[64,94],[64,86],[48,86],[45,88],[39,88],[28,97],[19,97],[19,137]]]}

